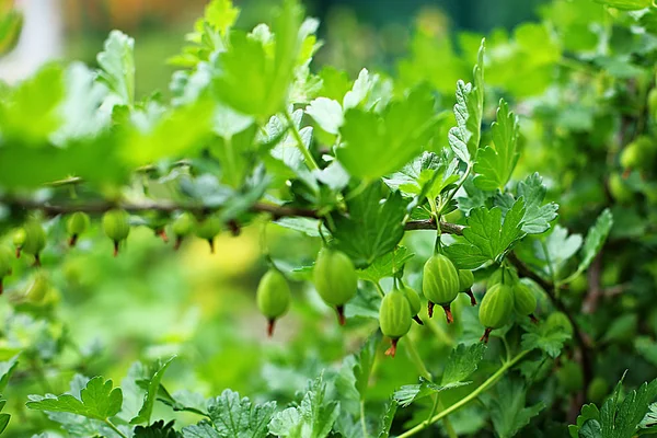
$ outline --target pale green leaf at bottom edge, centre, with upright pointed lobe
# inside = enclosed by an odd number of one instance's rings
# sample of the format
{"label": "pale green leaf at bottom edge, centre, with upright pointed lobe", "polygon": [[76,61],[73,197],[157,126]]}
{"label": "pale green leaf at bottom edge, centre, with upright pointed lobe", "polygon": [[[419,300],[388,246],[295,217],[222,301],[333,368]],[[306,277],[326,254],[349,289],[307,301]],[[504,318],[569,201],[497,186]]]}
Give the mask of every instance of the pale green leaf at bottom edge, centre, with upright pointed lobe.
{"label": "pale green leaf at bottom edge, centre, with upright pointed lobe", "polygon": [[324,438],[331,433],[339,415],[336,402],[324,400],[326,385],[323,377],[312,381],[298,407],[277,413],[269,423],[269,434],[279,437]]}

